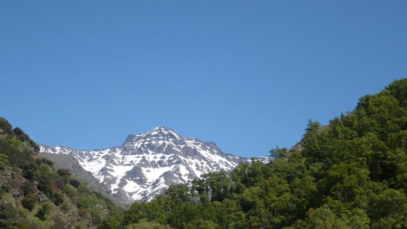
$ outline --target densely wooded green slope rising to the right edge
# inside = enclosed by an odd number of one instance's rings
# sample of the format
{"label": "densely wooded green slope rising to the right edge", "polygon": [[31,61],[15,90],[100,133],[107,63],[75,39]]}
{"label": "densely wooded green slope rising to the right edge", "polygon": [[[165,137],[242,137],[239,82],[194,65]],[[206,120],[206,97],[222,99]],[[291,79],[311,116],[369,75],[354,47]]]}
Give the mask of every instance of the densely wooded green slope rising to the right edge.
{"label": "densely wooded green slope rising to the right edge", "polygon": [[300,144],[288,152],[271,150],[270,163],[241,163],[231,173],[204,175],[192,186],[171,186],[152,202],[134,203],[121,223],[138,223],[132,228],[406,228],[406,152],[407,79],[402,79],[362,97],[355,110],[329,125],[310,121]]}

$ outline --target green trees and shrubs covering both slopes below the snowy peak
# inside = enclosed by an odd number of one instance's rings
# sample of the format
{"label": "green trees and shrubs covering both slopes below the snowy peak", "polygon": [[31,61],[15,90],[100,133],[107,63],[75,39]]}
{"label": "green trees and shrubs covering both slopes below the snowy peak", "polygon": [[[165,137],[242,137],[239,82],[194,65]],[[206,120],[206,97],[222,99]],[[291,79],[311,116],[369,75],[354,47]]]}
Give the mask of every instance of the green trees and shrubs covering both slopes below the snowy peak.
{"label": "green trees and shrubs covering both slopes below the snowy peak", "polygon": [[[41,213],[46,203],[84,211],[99,228],[407,228],[407,79],[362,97],[352,112],[328,125],[309,121],[301,141],[289,150],[272,149],[267,164],[253,159],[232,171],[202,175],[127,211],[70,180],[69,171],[53,171],[52,162],[8,153],[23,152],[21,145],[34,149],[35,143],[5,120],[0,124],[3,135],[14,136],[0,137],[1,168],[12,165],[15,176],[36,184],[27,192],[12,181],[2,184],[2,198],[13,198],[7,191],[13,188],[23,193],[17,207],[1,202],[1,223],[10,228],[44,219],[56,225],[59,219]],[[36,192],[49,200],[30,202]]]}

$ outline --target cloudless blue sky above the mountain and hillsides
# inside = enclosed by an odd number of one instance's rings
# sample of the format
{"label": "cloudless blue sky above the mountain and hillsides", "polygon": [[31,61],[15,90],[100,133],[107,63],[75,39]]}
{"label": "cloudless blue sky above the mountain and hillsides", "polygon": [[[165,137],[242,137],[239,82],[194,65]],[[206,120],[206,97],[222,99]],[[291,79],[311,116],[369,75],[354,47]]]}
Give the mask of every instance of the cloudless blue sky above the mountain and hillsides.
{"label": "cloudless blue sky above the mountain and hillsides", "polygon": [[268,154],[407,76],[406,1],[1,1],[0,116],[35,141],[156,126]]}

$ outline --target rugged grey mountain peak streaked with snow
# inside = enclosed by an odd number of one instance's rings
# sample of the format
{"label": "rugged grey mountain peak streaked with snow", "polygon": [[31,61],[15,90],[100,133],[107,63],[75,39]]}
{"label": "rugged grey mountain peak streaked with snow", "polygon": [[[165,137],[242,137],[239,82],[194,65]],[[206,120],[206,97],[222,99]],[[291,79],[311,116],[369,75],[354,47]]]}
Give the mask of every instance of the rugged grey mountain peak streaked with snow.
{"label": "rugged grey mountain peak streaked with snow", "polygon": [[229,170],[248,160],[223,153],[213,142],[183,138],[165,127],[131,134],[122,146],[104,150],[40,148],[42,153],[72,155],[124,203],[149,201],[171,184],[189,182],[210,171]]}

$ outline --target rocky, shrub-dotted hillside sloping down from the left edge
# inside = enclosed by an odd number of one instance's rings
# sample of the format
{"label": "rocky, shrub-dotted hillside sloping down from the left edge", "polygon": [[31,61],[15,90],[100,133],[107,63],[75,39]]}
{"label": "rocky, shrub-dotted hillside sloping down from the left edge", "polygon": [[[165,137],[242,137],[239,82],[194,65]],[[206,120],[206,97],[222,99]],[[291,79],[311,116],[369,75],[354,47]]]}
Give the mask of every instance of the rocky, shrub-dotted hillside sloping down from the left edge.
{"label": "rocky, shrub-dotted hillside sloping down from the left edge", "polygon": [[70,178],[67,169],[37,156],[39,147],[20,128],[0,118],[0,227],[96,228],[109,199]]}

